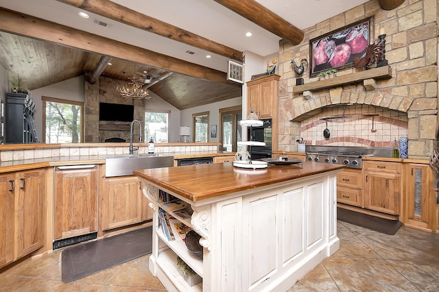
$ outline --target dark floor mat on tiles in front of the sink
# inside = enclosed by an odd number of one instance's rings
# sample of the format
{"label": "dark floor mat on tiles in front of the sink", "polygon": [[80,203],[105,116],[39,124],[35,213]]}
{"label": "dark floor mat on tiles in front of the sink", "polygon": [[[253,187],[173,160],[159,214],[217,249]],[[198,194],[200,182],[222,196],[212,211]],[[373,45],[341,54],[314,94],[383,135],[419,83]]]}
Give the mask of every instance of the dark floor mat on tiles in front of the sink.
{"label": "dark floor mat on tiles in front of the sink", "polygon": [[152,251],[152,226],[63,250],[62,281],[70,282]]}

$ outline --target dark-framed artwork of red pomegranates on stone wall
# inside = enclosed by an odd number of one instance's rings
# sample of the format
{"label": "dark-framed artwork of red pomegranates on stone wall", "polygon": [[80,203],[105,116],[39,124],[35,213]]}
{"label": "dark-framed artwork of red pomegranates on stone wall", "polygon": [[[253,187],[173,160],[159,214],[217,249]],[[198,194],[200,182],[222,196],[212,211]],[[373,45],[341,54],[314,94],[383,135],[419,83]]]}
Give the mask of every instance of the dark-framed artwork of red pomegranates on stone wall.
{"label": "dark-framed artwork of red pomegranates on stone wall", "polygon": [[309,77],[330,69],[354,66],[370,44],[374,29],[373,16],[309,40]]}

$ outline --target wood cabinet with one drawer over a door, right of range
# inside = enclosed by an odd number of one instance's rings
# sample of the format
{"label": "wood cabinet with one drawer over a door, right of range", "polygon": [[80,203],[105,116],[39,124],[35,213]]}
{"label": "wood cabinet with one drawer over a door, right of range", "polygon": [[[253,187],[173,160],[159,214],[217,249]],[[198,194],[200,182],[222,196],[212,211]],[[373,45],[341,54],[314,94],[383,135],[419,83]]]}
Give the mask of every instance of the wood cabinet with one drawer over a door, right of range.
{"label": "wood cabinet with one drawer over a door, right of range", "polygon": [[364,208],[401,214],[401,163],[364,161]]}

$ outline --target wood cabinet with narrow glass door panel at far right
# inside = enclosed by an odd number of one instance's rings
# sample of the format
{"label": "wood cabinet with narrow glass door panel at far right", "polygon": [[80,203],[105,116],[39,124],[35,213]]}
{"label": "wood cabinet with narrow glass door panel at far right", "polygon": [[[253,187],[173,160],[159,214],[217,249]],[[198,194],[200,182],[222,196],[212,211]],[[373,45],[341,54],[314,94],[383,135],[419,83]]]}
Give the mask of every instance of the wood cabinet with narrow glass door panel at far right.
{"label": "wood cabinet with narrow glass door panel at far right", "polygon": [[415,228],[436,230],[435,194],[431,188],[434,175],[428,164],[405,164],[404,224]]}

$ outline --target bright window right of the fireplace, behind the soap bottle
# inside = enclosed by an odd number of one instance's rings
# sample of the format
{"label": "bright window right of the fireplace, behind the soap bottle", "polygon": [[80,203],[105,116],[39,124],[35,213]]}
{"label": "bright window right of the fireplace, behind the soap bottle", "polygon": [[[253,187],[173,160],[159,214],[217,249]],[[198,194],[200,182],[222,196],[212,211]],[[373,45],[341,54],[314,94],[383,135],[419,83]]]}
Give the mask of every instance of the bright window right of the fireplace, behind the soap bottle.
{"label": "bright window right of the fireplace, behind the soap bottle", "polygon": [[145,142],[150,141],[151,137],[157,143],[169,141],[170,113],[170,110],[145,112]]}

